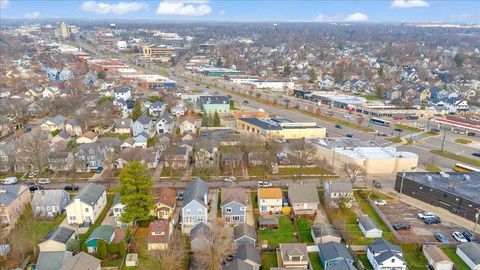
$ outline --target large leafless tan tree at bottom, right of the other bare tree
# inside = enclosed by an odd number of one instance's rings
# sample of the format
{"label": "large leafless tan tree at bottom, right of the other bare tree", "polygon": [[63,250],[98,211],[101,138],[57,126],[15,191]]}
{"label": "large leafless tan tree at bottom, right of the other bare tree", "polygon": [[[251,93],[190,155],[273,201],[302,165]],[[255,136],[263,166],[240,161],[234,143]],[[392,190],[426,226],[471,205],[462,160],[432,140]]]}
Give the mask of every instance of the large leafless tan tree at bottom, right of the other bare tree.
{"label": "large leafless tan tree at bottom, right of the other bare tree", "polygon": [[233,232],[222,222],[212,222],[212,241],[208,247],[194,254],[207,270],[220,270],[224,259],[235,253]]}

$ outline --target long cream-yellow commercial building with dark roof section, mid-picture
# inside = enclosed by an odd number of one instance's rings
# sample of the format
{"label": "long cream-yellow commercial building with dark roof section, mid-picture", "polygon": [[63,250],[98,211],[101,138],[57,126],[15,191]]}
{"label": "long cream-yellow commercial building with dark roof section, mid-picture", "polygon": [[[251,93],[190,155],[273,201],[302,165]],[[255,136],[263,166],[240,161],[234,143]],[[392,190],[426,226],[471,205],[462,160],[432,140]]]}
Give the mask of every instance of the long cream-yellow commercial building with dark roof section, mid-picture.
{"label": "long cream-yellow commercial building with dark roof section, mid-picture", "polygon": [[237,129],[267,139],[322,139],[326,129],[315,122],[295,122],[288,118],[238,118]]}

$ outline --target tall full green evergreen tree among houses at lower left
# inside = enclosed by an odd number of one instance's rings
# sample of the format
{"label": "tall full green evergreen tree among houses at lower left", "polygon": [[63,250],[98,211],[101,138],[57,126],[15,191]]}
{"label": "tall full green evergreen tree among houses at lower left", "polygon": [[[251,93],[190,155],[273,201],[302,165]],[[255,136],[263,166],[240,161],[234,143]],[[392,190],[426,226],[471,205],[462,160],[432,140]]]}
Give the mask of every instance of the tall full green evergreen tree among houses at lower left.
{"label": "tall full green evergreen tree among houses at lower left", "polygon": [[138,222],[150,218],[153,205],[152,178],[146,173],[147,166],[138,161],[129,162],[120,172],[120,196],[125,205],[121,221]]}

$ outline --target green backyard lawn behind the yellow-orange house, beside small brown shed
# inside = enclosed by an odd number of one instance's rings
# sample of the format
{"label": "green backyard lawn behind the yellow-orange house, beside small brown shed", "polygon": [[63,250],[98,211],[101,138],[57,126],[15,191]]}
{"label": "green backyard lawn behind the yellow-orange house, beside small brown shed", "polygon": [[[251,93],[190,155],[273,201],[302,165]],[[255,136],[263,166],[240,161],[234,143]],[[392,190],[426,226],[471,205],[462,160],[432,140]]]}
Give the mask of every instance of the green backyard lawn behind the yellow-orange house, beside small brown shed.
{"label": "green backyard lawn behind the yellow-orange house, beside small brown shed", "polygon": [[267,240],[268,245],[278,247],[280,243],[297,243],[295,228],[288,216],[279,217],[279,228],[277,230],[258,230],[258,241]]}

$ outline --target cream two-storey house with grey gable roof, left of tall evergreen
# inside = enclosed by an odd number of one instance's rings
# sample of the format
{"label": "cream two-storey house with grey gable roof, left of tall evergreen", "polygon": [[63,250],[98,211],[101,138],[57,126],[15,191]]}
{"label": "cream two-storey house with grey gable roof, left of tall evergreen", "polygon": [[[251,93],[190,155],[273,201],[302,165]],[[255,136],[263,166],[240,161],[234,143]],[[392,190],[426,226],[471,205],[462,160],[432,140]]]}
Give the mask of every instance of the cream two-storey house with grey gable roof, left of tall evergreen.
{"label": "cream two-storey house with grey gable roof, left of tall evergreen", "polygon": [[105,187],[90,183],[82,188],[65,208],[68,224],[92,224],[106,205]]}

